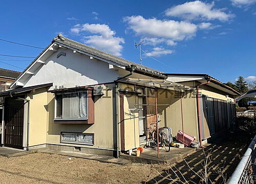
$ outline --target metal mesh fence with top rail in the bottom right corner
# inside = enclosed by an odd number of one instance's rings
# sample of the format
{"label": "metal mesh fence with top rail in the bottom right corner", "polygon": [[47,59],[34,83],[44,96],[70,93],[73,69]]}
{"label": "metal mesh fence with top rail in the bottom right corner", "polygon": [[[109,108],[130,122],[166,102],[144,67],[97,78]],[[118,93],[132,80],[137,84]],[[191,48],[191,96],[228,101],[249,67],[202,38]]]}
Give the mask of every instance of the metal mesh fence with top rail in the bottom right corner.
{"label": "metal mesh fence with top rail in the bottom right corner", "polygon": [[255,183],[255,155],[256,155],[256,135],[240,160],[236,170],[234,170],[228,184]]}

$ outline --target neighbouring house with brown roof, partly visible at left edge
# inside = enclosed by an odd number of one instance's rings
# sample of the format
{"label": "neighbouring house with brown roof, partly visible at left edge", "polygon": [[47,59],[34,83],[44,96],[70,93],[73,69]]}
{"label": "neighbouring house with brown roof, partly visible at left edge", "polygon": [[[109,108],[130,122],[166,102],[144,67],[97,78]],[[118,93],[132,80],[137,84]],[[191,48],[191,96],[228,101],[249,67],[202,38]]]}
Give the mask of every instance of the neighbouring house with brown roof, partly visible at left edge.
{"label": "neighbouring house with brown roof, partly visible at left edge", "polygon": [[[9,90],[11,83],[18,77],[20,72],[11,71],[4,68],[0,68],[0,91]],[[0,98],[0,119],[2,120],[3,113],[3,101]],[[0,131],[2,131],[2,121],[0,122]]]}

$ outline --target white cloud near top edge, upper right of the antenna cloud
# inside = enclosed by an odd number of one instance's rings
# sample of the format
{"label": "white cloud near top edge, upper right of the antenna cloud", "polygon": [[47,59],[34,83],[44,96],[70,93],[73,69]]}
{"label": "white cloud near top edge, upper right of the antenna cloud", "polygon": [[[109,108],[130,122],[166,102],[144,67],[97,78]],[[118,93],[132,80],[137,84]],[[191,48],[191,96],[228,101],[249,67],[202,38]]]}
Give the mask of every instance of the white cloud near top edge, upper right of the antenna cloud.
{"label": "white cloud near top edge, upper right of the antenna cloud", "polygon": [[[240,0],[241,1],[241,0]],[[177,5],[165,10],[166,16],[175,16],[185,19],[203,19],[220,21],[228,21],[234,17],[231,13],[225,13],[224,9],[214,8],[214,2],[207,4],[202,1],[186,2],[182,5]]]}

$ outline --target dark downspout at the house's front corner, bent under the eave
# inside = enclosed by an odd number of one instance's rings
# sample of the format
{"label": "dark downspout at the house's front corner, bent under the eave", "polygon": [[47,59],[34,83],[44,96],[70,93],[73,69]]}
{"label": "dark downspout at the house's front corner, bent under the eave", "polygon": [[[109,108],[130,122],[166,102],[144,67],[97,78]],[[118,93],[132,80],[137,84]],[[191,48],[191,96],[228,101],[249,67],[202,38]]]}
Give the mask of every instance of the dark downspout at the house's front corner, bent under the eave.
{"label": "dark downspout at the house's front corner, bent under the eave", "polygon": [[118,78],[118,79],[116,79],[116,80],[114,80],[114,82],[115,82],[115,91],[114,91],[114,98],[116,99],[115,100],[115,117],[114,117],[114,121],[115,121],[115,124],[116,124],[116,158],[118,158],[119,157],[119,126],[118,126],[118,122],[117,122],[117,120],[118,120],[118,114],[117,114],[117,87],[118,87],[118,85],[117,85],[117,83],[118,83],[118,81],[120,81],[120,80],[122,80],[122,79],[124,79],[124,78],[126,78],[126,77],[129,77],[129,76],[131,76],[133,74],[133,68],[132,68],[132,70],[130,71],[130,74],[127,74],[127,75],[125,75],[125,76],[123,76],[123,77],[120,77],[120,78]]}

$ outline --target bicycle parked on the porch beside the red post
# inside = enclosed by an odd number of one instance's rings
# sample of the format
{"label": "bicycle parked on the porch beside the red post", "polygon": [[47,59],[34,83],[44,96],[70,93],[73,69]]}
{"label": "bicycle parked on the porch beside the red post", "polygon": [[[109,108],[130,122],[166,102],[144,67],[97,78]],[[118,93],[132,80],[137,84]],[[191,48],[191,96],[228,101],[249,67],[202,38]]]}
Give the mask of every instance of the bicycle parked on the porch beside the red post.
{"label": "bicycle parked on the porch beside the red post", "polygon": [[[158,121],[159,123],[160,121]],[[151,137],[155,145],[157,145],[157,130],[152,131]],[[158,129],[158,145],[159,147],[163,147],[166,152],[170,151],[170,141],[166,133],[163,132],[163,128]]]}

